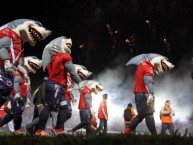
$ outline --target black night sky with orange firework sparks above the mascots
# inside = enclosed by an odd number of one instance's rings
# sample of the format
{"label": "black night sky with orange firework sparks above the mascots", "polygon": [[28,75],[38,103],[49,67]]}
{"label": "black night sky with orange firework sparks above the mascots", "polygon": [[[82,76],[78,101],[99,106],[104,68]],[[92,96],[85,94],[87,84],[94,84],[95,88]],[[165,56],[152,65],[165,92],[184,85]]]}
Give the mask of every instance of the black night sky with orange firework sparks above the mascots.
{"label": "black night sky with orange firework sparks above the mascots", "polygon": [[[94,74],[149,52],[167,56],[178,67],[193,50],[192,0],[1,1],[0,25],[19,18],[52,30],[35,47],[26,43],[26,56],[41,58],[45,45],[64,35],[72,38],[73,62]],[[126,59],[115,63],[120,55]],[[39,70],[32,82],[41,82],[43,75]]]}

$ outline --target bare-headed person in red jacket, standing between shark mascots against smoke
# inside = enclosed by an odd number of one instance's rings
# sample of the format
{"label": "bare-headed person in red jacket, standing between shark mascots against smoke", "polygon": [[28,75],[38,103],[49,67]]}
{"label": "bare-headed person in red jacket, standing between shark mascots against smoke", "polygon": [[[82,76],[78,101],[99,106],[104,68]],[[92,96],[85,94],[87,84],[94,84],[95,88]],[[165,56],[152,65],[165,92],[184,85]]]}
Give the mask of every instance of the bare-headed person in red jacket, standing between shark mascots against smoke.
{"label": "bare-headed person in red jacket, standing between shark mascots against smoke", "polygon": [[100,103],[98,109],[98,118],[100,119],[99,127],[96,129],[95,134],[98,134],[101,130],[103,133],[107,133],[107,120],[108,120],[108,110],[107,110],[107,98],[108,94],[102,95],[103,100]]}

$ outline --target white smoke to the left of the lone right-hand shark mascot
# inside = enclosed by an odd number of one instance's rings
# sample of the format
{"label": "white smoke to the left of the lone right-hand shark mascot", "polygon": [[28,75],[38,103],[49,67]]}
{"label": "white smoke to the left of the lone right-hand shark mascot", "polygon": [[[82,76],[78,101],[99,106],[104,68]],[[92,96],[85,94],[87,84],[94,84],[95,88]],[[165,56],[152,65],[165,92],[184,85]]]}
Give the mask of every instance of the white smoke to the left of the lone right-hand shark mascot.
{"label": "white smoke to the left of the lone right-hand shark mascot", "polygon": [[[93,95],[93,107],[96,110],[102,100],[102,94],[108,94],[108,126],[109,130],[121,131],[124,128],[123,111],[128,103],[134,105],[133,83],[134,73],[126,69],[126,56],[117,57],[113,62],[114,67],[106,68],[94,77],[105,88],[98,95]],[[121,63],[121,64],[120,64]]]}

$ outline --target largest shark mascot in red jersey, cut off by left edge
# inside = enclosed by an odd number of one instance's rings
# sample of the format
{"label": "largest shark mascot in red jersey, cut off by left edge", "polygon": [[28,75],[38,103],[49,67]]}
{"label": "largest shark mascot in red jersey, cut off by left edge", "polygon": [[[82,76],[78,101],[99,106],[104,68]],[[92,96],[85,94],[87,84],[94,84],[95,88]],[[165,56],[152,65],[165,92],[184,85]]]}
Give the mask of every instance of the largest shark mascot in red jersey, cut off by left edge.
{"label": "largest shark mascot in red jersey, cut off by left edge", "polygon": [[51,34],[38,21],[17,19],[0,27],[0,106],[4,104],[14,85],[14,69],[17,68],[29,82],[24,65],[24,43],[31,46]]}

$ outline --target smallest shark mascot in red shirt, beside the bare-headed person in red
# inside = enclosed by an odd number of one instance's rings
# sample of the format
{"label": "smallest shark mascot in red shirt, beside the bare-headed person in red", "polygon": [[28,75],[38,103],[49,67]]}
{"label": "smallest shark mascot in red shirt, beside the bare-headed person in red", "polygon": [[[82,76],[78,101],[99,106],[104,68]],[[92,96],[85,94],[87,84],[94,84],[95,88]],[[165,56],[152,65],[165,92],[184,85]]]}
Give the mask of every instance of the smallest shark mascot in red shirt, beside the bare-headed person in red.
{"label": "smallest shark mascot in red shirt, beside the bare-headed person in red", "polygon": [[82,82],[83,89],[80,92],[79,98],[79,114],[80,114],[80,123],[76,125],[71,130],[68,130],[67,134],[74,134],[78,129],[85,128],[86,135],[92,135],[93,129],[91,128],[92,120],[92,93],[98,94],[104,90],[104,86],[95,80],[85,80]]}

